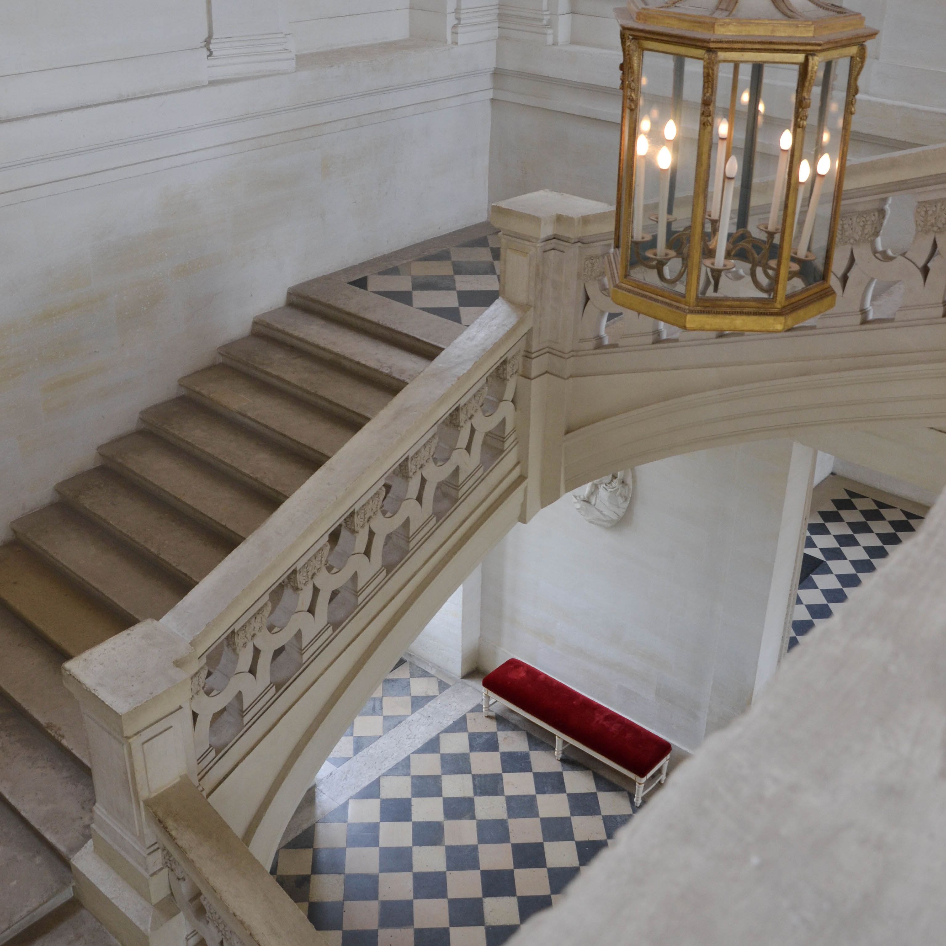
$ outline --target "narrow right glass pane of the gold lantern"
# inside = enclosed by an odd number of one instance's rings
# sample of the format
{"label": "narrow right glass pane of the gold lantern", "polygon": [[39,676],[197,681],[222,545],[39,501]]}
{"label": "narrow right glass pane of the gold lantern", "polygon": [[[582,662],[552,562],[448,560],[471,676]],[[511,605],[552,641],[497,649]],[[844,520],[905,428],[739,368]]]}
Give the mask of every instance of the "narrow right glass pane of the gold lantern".
{"label": "narrow right glass pane of the gold lantern", "polygon": [[[788,283],[789,293],[825,278],[849,76],[848,58],[821,62],[818,66],[801,155],[811,168],[811,176],[805,184],[798,185],[797,222],[792,237],[793,259],[800,269]],[[823,175],[819,173],[819,162],[825,170]],[[799,241],[806,244],[807,252]]]}

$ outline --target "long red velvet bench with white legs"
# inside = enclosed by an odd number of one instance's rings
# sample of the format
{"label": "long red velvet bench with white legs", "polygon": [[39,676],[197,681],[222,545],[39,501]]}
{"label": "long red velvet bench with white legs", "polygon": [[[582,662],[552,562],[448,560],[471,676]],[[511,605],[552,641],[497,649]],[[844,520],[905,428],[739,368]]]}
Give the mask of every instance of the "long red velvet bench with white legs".
{"label": "long red velvet bench with white legs", "polygon": [[644,727],[595,703],[521,660],[507,660],[482,680],[483,715],[499,700],[555,736],[555,758],[565,745],[614,766],[637,782],[634,804],[667,779],[671,745]]}

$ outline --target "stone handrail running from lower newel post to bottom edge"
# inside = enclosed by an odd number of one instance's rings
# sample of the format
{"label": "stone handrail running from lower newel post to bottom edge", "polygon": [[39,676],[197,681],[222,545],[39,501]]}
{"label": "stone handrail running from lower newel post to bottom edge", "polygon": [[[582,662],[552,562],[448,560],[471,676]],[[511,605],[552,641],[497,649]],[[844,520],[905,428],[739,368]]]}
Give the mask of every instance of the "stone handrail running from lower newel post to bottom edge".
{"label": "stone handrail running from lower newel post to bottom edge", "polygon": [[188,779],[145,802],[171,896],[206,946],[324,946],[307,917]]}

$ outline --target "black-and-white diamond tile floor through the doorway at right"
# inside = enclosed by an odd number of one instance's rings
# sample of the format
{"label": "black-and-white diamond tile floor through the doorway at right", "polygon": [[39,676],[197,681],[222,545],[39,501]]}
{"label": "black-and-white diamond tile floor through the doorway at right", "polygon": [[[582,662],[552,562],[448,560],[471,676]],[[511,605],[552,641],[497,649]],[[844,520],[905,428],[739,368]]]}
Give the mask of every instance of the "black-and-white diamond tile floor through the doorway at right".
{"label": "black-and-white diamond tile floor through the doorway at right", "polygon": [[852,489],[844,492],[845,497],[832,499],[809,517],[789,650],[816,624],[832,617],[851,590],[874,571],[874,563],[914,534],[923,520]]}

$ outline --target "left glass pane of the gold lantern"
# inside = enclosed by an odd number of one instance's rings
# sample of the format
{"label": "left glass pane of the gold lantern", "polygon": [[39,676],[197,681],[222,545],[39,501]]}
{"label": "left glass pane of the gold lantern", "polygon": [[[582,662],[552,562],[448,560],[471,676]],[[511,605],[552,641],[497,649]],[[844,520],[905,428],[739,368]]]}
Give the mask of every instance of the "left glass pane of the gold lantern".
{"label": "left glass pane of the gold lantern", "polygon": [[702,59],[644,50],[627,275],[678,295],[687,288],[702,90]]}

